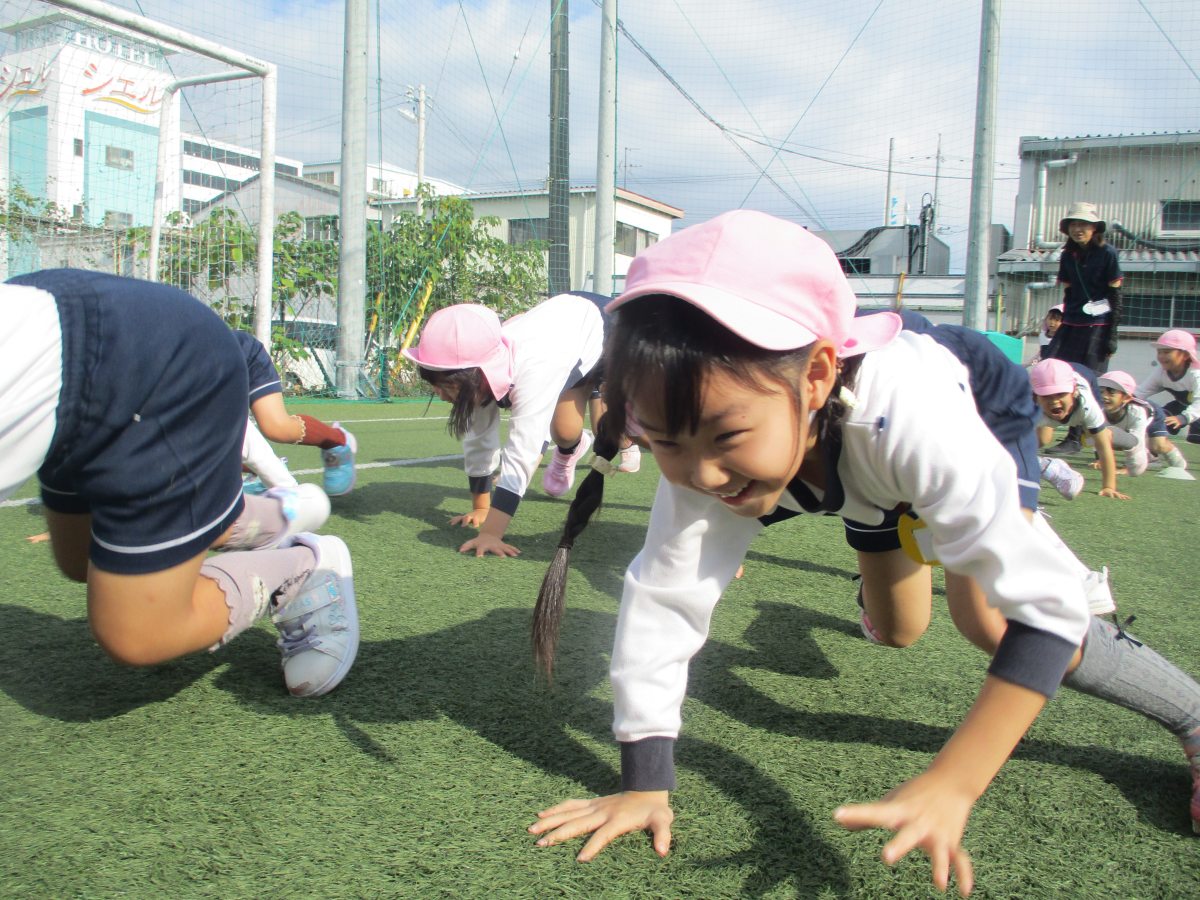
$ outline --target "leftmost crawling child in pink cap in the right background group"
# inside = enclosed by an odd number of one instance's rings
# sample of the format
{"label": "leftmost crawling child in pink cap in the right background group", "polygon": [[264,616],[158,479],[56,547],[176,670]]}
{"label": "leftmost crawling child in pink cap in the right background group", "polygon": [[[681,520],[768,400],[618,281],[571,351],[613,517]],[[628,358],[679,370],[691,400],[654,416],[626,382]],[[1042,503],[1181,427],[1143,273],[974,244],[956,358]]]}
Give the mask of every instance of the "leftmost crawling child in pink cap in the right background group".
{"label": "leftmost crawling child in pink cap in the right background group", "polygon": [[[1058,425],[1084,430],[1092,436],[1100,462],[1100,497],[1128,500],[1117,490],[1117,461],[1112,452],[1112,433],[1104,418],[1096,373],[1078,362],[1044,359],[1030,370],[1033,398],[1042,409],[1038,420],[1038,446],[1046,446]],[[1050,454],[1057,448],[1051,449]]]}

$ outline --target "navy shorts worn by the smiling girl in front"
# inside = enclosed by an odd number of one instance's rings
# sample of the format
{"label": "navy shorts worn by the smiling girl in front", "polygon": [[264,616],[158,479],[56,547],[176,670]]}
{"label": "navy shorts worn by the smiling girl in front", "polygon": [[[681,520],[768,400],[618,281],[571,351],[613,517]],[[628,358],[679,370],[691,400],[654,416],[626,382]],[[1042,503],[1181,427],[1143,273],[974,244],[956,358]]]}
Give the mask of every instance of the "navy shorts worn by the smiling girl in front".
{"label": "navy shorts worn by the smiling girl in front", "polygon": [[[905,331],[929,335],[967,367],[979,418],[1016,463],[1021,509],[1036,510],[1042,469],[1034,428],[1037,406],[1028,374],[979,331],[961,325],[934,325],[924,316],[905,310],[899,316]],[[906,514],[906,506],[886,512],[881,524],[845,520],[846,542],[864,553],[899,550],[896,523]]]}

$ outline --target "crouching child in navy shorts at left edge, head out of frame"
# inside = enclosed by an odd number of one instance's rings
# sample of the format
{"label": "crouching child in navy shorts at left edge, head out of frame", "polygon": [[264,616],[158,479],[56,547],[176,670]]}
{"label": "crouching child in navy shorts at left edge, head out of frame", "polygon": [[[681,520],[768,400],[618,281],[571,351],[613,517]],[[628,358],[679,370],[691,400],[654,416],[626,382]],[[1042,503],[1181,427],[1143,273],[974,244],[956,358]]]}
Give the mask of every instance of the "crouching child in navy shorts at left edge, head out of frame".
{"label": "crouching child in navy shorts at left edge, head out of frame", "polygon": [[71,269],[13,278],[0,304],[0,497],[37,473],[100,646],[148,666],[270,614],[288,690],[332,690],[359,641],[349,552],[311,533],[316,485],[242,496],[246,365],[224,323],[175,288]]}

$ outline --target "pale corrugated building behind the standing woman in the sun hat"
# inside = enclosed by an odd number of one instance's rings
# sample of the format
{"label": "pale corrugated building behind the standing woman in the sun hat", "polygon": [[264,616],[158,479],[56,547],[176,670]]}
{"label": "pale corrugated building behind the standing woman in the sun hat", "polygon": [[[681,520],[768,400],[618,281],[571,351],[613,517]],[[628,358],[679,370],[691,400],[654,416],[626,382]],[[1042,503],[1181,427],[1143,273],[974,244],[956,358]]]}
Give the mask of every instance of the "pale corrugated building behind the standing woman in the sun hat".
{"label": "pale corrugated building behind the standing woman in the sun hat", "polygon": [[1058,222],[1075,200],[1097,204],[1121,254],[1122,338],[1200,329],[1200,132],[1024,137],[1020,156],[1013,248],[997,260],[1010,330],[1061,302]]}

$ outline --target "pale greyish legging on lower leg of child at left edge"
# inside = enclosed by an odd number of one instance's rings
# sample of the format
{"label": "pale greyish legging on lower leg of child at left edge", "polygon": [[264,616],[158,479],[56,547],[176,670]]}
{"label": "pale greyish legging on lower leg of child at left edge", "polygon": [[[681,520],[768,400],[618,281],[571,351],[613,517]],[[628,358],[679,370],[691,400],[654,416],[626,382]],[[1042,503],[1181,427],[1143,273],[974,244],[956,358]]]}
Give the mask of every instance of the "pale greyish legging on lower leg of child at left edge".
{"label": "pale greyish legging on lower leg of child at left edge", "polygon": [[200,576],[217,583],[229,607],[229,628],[209,650],[224,647],[253,625],[266,613],[272,600],[282,606],[295,596],[316,564],[316,553],[302,544],[205,559]]}

